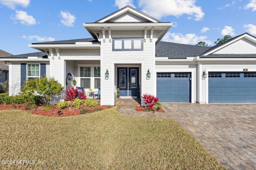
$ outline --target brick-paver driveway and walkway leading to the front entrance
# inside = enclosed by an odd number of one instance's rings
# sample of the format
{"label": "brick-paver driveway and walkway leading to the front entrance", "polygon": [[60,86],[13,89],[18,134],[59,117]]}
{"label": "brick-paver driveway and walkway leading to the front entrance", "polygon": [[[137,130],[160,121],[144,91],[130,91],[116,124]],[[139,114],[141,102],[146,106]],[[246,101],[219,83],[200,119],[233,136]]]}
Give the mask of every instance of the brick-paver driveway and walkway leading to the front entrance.
{"label": "brick-paver driveway and walkway leading to the front entrance", "polygon": [[230,170],[256,170],[256,104],[164,103],[166,113],[137,112],[135,100],[116,101],[127,115],[175,119]]}

